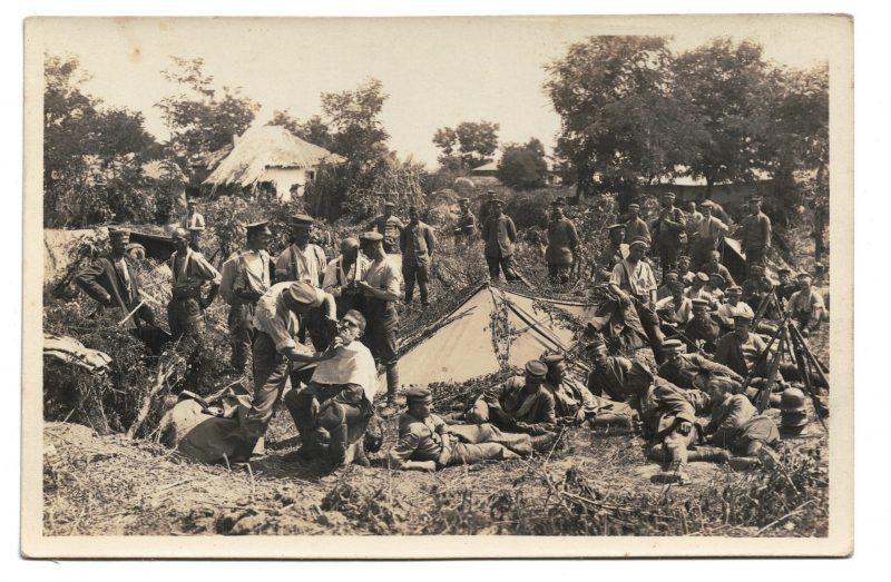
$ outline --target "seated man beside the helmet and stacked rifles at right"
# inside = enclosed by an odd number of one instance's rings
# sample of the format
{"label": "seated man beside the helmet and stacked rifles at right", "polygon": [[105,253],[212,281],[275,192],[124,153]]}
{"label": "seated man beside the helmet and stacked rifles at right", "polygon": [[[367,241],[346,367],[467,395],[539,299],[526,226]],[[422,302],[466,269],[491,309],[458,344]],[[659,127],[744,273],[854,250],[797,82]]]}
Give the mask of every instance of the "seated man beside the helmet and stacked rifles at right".
{"label": "seated man beside the helmet and stacked rifles at right", "polygon": [[745,468],[758,461],[768,468],[776,466],[779,457],[773,448],[780,444],[776,424],[752,405],[743,394],[734,394],[734,385],[717,379],[708,385],[712,398],[712,417],[701,427],[707,442],[730,450],[740,458],[732,460],[734,468]]}

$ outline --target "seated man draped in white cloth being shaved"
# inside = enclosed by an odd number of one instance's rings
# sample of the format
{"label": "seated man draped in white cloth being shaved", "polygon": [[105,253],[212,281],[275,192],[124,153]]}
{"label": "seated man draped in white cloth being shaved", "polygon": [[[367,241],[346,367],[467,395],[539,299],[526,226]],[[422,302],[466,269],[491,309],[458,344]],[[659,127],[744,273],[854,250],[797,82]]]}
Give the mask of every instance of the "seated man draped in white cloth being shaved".
{"label": "seated man draped in white cloth being shaved", "polygon": [[284,398],[303,442],[300,455],[325,456],[331,466],[368,464],[361,437],[373,414],[378,389],[374,358],[359,338],[365,318],[350,310],[337,323],[334,356],[321,362],[303,391]]}

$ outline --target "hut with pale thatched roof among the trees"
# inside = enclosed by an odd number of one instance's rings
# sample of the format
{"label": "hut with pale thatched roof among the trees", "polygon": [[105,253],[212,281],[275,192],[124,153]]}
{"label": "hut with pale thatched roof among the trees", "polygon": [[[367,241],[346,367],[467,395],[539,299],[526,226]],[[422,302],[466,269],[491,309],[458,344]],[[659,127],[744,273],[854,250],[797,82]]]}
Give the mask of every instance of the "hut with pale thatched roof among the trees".
{"label": "hut with pale thatched roof among the trees", "polygon": [[271,185],[278,196],[303,194],[303,186],[315,176],[322,162],[340,164],[345,159],[281,126],[252,127],[236,141],[232,151],[204,180],[216,190],[221,186],[254,189]]}

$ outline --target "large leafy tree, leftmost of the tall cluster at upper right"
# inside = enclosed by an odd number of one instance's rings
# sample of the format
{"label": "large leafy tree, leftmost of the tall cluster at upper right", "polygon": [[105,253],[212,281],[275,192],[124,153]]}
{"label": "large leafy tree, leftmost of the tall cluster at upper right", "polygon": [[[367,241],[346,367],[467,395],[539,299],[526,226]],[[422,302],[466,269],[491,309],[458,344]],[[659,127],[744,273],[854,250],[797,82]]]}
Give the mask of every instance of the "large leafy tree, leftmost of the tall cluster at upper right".
{"label": "large leafy tree, leftmost of the tall cluster at upper right", "polygon": [[689,120],[670,97],[665,37],[590,37],[548,65],[545,83],[561,117],[557,155],[571,164],[577,195],[640,185],[688,157]]}

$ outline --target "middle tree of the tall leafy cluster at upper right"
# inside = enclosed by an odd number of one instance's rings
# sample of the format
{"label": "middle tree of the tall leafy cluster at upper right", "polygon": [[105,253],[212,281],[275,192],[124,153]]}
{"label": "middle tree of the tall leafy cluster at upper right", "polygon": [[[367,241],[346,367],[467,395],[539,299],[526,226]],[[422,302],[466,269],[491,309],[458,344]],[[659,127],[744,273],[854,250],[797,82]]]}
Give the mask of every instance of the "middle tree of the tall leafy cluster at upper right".
{"label": "middle tree of the tall leafy cluster at upper right", "polygon": [[771,131],[771,67],[762,47],[717,38],[672,63],[673,97],[692,115],[695,154],[686,175],[706,180],[706,198],[722,181],[750,181],[753,160]]}

